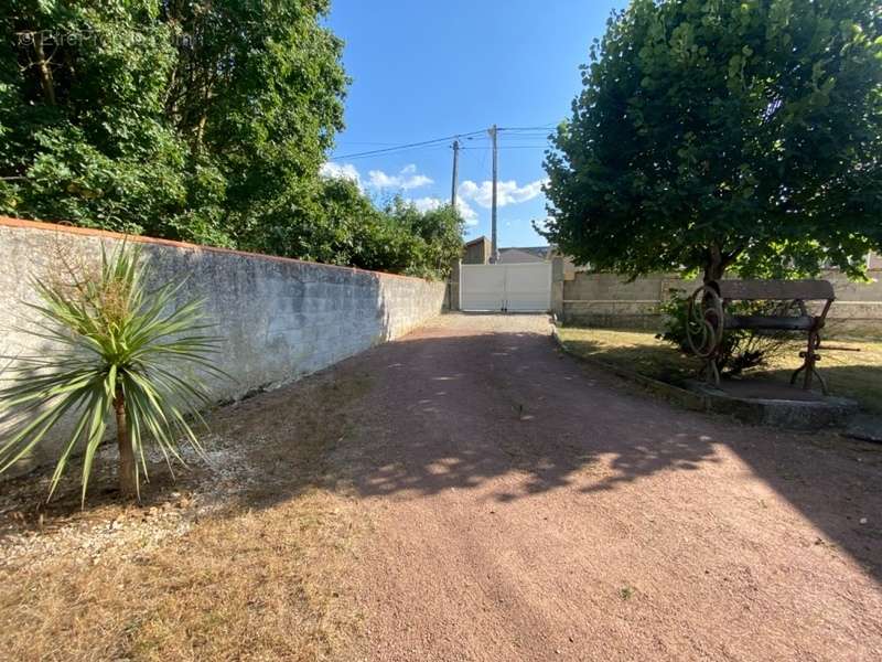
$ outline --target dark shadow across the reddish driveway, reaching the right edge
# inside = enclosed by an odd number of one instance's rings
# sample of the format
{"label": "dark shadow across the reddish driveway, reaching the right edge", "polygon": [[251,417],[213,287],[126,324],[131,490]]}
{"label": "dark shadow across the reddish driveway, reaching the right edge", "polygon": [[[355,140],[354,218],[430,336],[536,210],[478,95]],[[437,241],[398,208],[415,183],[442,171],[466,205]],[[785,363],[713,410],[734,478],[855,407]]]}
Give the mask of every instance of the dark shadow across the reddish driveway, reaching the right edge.
{"label": "dark shadow across the reddish driveway, reaching the right edge", "polygon": [[[882,452],[872,445],[681,410],[556,352],[541,334],[423,334],[375,348],[321,378],[325,395],[312,398],[312,423],[280,438],[283,471],[291,469],[286,447],[316,434],[325,439],[320,469],[297,489],[318,480],[345,483],[359,498],[405,500],[476,490],[483,500],[513,503],[632,484],[658,490],[691,474],[681,483],[690,492],[684,499],[699,491],[690,508],[765,508],[742,484],[747,474],[882,579],[882,528],[867,520],[882,512]],[[359,380],[363,386],[351,388]],[[345,395],[327,397],[327,384]],[[278,397],[272,407],[289,402]],[[646,480],[653,477],[662,480]],[[290,496],[292,484],[279,487],[266,503]]]}

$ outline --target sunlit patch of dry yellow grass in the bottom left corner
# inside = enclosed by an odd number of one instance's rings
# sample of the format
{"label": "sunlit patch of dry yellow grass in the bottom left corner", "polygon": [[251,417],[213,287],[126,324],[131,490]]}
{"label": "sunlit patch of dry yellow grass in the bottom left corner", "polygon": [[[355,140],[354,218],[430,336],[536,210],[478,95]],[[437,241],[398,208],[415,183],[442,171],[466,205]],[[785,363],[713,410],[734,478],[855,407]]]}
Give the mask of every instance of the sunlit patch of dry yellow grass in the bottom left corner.
{"label": "sunlit patch of dry yellow grass in the bottom left corner", "polygon": [[355,624],[332,588],[352,537],[344,506],[316,492],[200,524],[141,559],[18,572],[3,581],[2,648],[18,660],[326,658]]}

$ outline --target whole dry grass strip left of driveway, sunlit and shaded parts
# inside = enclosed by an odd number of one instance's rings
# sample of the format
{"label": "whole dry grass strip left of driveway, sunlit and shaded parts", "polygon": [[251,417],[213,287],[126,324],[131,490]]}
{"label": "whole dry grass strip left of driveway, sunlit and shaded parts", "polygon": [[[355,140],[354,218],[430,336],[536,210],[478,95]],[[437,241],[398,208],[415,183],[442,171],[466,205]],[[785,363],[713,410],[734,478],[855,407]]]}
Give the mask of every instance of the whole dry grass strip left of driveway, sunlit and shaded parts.
{"label": "whole dry grass strip left of driveway, sunlit and shaded parts", "polygon": [[[77,513],[67,502],[76,485],[65,484],[60,504],[41,510],[28,481],[14,481],[22,502],[6,509],[0,553],[20,548],[0,563],[2,656],[346,659],[359,627],[347,576],[366,524],[333,453],[368,383],[342,383],[320,375],[219,410],[213,428],[243,451],[230,456],[240,471],[195,471],[174,487],[159,472],[146,509],[110,494]],[[153,545],[126,536],[161,528],[169,510],[175,524]],[[65,543],[71,527],[85,532],[78,544],[104,536],[97,553]]]}

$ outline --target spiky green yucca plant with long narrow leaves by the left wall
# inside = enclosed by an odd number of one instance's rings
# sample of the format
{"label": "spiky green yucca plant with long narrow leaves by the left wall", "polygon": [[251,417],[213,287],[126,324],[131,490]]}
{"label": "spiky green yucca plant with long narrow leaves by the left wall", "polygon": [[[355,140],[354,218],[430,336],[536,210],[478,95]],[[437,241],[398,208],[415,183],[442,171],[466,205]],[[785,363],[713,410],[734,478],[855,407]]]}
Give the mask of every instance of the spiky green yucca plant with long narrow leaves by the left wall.
{"label": "spiky green yucca plant with long narrow leaves by the left wall", "polygon": [[203,453],[191,421],[204,424],[198,409],[209,401],[196,375],[224,376],[211,362],[218,339],[208,333],[202,300],[174,305],[183,280],[151,291],[146,276],[140,248],[122,244],[111,255],[101,249],[100,268],[68,267],[61,278],[34,280],[40,303],[29,306],[42,319],[30,332],[53,349],[49,356],[14,356],[10,383],[0,389],[0,410],[12,430],[0,441],[0,472],[62,420],[72,427],[60,448],[50,499],[72,455],[82,452],[85,503],[111,416],[125,499],[140,499],[146,444],[154,442],[170,467],[171,458],[183,462],[181,440]]}

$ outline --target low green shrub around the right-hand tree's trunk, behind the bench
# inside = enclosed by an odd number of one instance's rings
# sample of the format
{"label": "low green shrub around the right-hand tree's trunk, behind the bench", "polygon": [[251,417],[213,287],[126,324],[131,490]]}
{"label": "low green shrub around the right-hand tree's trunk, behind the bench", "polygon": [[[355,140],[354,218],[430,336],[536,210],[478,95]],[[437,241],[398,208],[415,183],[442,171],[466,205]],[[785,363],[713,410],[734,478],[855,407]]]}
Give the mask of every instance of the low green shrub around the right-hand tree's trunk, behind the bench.
{"label": "low green shrub around the right-hand tree's trunk, behind the bench", "polygon": [[[665,328],[656,338],[674,344],[685,354],[692,354],[686,337],[688,307],[689,300],[682,290],[670,290],[670,298],[659,306],[659,311],[665,316]],[[767,303],[751,301],[731,303],[728,310],[734,314],[771,312]],[[766,365],[787,342],[788,338],[782,332],[727,330],[717,355],[717,365],[721,374],[739,375],[747,369]]]}

